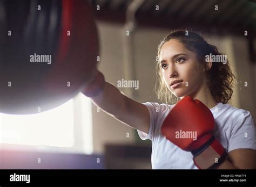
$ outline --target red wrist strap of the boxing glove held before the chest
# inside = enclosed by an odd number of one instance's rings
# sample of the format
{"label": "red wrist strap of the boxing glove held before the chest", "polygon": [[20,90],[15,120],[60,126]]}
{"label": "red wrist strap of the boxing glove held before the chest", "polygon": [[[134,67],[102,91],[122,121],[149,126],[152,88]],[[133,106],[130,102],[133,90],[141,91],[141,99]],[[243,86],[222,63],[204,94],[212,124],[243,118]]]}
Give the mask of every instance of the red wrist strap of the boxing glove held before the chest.
{"label": "red wrist strap of the boxing glove held before the chest", "polygon": [[199,169],[212,169],[225,161],[227,153],[220,142],[212,136],[203,146],[193,150],[194,164]]}

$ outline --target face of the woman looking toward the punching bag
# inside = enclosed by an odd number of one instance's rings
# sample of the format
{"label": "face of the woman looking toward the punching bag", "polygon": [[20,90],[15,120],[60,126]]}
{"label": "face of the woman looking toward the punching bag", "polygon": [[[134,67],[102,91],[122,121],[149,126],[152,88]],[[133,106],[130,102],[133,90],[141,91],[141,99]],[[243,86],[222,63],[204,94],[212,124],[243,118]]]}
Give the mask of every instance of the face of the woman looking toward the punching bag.
{"label": "face of the woman looking toward the punching bag", "polygon": [[[165,84],[175,96],[193,96],[203,85],[203,66],[199,66],[196,54],[188,51],[178,40],[165,42],[159,60]],[[173,84],[173,81],[177,83]]]}

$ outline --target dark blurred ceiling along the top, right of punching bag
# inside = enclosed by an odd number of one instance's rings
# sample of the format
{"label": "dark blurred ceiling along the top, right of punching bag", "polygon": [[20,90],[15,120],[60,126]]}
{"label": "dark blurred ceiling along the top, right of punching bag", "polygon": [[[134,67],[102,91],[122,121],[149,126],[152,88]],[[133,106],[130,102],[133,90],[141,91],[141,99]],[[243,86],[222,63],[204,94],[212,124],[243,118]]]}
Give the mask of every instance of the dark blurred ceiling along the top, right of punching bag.
{"label": "dark blurred ceiling along the top, right of punching bag", "polygon": [[[137,0],[135,0],[137,1]],[[91,0],[96,18],[125,23],[131,0]],[[100,11],[96,6],[100,6]],[[156,10],[156,6],[159,10]],[[218,5],[218,10],[215,10]],[[139,26],[196,28],[208,32],[256,35],[256,1],[145,0],[136,13]]]}

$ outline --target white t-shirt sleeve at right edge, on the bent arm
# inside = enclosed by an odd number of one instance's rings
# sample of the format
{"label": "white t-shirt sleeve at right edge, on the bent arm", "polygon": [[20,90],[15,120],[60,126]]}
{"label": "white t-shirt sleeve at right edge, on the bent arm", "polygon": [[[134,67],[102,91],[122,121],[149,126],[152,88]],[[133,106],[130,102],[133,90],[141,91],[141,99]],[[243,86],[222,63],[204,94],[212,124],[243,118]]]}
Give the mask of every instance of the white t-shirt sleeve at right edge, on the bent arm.
{"label": "white t-shirt sleeve at right edge, on the bent arm", "polygon": [[256,128],[250,112],[242,112],[231,130],[228,152],[234,149],[256,149]]}

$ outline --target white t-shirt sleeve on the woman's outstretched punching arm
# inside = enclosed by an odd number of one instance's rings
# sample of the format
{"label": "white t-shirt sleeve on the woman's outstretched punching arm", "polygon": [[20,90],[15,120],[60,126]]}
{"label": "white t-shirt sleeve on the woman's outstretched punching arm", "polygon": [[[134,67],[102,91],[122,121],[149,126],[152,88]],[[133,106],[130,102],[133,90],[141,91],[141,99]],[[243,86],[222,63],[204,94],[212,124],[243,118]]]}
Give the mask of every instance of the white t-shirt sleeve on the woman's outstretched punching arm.
{"label": "white t-shirt sleeve on the woman's outstretched punching arm", "polygon": [[154,127],[157,121],[157,112],[159,111],[159,107],[160,105],[158,103],[150,103],[150,102],[146,102],[146,103],[142,103],[147,107],[147,110],[149,110],[150,113],[150,130],[149,130],[149,134],[146,134],[142,131],[138,131],[139,137],[142,140],[152,140],[152,132],[154,132]]}

